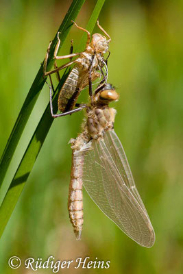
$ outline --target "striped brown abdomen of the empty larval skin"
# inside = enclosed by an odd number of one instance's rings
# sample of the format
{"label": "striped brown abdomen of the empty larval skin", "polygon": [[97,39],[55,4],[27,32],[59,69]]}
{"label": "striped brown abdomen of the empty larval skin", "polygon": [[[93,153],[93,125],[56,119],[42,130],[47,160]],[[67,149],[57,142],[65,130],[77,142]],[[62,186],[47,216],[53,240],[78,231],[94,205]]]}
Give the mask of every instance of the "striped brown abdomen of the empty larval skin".
{"label": "striped brown abdomen of the empty larval skin", "polygon": [[66,78],[66,82],[64,82],[64,85],[62,86],[62,89],[60,90],[60,94],[58,96],[58,109],[60,110],[60,112],[65,111],[69,99],[71,99],[71,97],[75,93],[78,79],[79,71],[77,66],[75,66],[71,70],[71,73],[69,73],[69,76]]}

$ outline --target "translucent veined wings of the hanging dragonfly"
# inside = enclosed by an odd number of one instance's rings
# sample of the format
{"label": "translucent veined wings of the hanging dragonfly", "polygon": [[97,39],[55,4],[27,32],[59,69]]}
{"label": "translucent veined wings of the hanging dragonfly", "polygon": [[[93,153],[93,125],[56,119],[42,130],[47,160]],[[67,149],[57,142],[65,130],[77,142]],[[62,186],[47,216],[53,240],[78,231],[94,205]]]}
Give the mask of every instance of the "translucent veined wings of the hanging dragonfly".
{"label": "translucent veined wings of the hanging dragonfly", "polygon": [[84,155],[84,187],[97,206],[139,245],[154,245],[154,229],[114,130],[76,153]]}

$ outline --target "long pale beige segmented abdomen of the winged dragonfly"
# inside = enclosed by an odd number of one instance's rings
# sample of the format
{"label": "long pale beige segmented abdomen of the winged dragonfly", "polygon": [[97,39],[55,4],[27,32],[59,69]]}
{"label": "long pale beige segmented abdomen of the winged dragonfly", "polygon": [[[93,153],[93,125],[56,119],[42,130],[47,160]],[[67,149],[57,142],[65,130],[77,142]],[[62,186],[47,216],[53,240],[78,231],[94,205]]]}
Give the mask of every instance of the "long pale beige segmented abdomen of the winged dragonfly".
{"label": "long pale beige segmented abdomen of the winged dragonfly", "polygon": [[69,184],[68,208],[69,217],[74,228],[77,240],[80,240],[83,225],[83,175],[84,156],[78,155],[77,151],[72,154],[71,182]]}

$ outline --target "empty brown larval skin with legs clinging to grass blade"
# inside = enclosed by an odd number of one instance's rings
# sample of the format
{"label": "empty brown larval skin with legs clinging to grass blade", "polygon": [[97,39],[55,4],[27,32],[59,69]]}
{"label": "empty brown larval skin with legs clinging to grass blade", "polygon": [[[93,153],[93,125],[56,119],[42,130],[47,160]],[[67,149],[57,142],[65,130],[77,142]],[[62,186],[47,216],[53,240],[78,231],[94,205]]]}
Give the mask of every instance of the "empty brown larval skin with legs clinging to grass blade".
{"label": "empty brown larval skin with legs clinging to grass blade", "polygon": [[[92,91],[92,85],[95,79],[103,76],[102,82],[107,82],[108,78],[108,66],[107,66],[107,59],[104,59],[103,55],[105,53],[109,53],[108,57],[110,55],[109,49],[109,42],[111,41],[111,38],[109,34],[99,25],[99,21],[97,21],[97,25],[99,29],[106,35],[103,36],[101,34],[93,34],[92,38],[90,36],[90,32],[88,30],[84,29],[83,27],[79,27],[74,21],[72,21],[77,29],[81,29],[82,31],[86,32],[87,34],[87,41],[86,41],[86,47],[85,50],[80,53],[73,53],[73,46],[71,45],[71,53],[69,55],[58,55],[58,49],[60,47],[60,32],[58,32],[58,43],[56,45],[56,49],[54,51],[53,58],[55,60],[61,60],[70,58],[70,62],[67,62],[66,64],[62,66],[57,66],[56,62],[54,64],[55,69],[53,71],[47,71],[47,60],[49,58],[49,49],[51,47],[51,42],[49,43],[49,47],[47,49],[47,53],[45,56],[45,61],[43,64],[43,73],[44,77],[49,75],[51,86],[53,89],[53,84],[51,80],[51,74],[57,73],[58,80],[60,81],[60,75],[59,71],[62,69],[65,69],[68,66],[71,66],[75,64],[73,69],[71,69],[68,77],[66,78],[66,81],[64,82],[64,85],[60,89],[59,95],[58,95],[58,110],[60,110],[60,114],[53,114],[53,106],[52,106],[52,95],[50,95],[50,103],[51,103],[51,115],[53,118],[59,117],[59,116],[65,116],[68,114],[72,114],[73,112],[78,112],[85,108],[84,105],[77,104],[77,98],[80,95],[80,92],[86,88],[86,86],[89,87],[89,95],[90,95],[90,101],[93,103],[93,91]],[[107,37],[107,38],[106,38]],[[77,57],[75,60],[72,60],[72,58]],[[103,73],[103,68],[105,70],[105,73]],[[77,107],[77,108],[75,108]]]}

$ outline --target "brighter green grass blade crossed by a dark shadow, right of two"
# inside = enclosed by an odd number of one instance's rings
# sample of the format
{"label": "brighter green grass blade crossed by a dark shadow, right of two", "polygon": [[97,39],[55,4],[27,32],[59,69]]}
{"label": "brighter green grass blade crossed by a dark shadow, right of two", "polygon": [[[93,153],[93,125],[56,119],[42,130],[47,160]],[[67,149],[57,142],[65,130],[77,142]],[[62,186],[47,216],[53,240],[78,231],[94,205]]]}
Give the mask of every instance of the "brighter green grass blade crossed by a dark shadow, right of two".
{"label": "brighter green grass blade crossed by a dark shadow, right of two", "polygon": [[[103,3],[104,0],[98,0],[95,5],[93,14],[91,15],[90,20],[88,21],[89,32],[93,31],[96,19],[99,16],[99,12],[101,11]],[[82,42],[83,41],[84,38],[82,39]],[[64,76],[61,79],[61,85],[64,83],[65,78],[66,74],[64,74]],[[56,94],[53,96],[53,108],[55,110],[57,109],[57,97],[58,92],[56,92]],[[16,206],[16,203],[23,190],[23,187],[25,186],[25,182],[27,181],[29,173],[32,171],[34,163],[36,162],[36,158],[38,157],[38,153],[40,152],[42,144],[45,141],[45,138],[47,136],[47,133],[49,132],[52,123],[53,118],[51,117],[50,106],[48,104],[44,114],[42,115],[42,118],[40,119],[38,126],[36,127],[34,135],[32,136],[32,139],[30,140],[29,145],[27,146],[27,150],[23,155],[21,163],[19,164],[19,167],[16,170],[14,178],[12,179],[10,187],[8,188],[8,192],[6,193],[5,198],[3,199],[3,202],[1,204],[0,236],[3,234],[3,230],[5,229],[5,226],[8,223],[8,220],[10,219],[14,207]]]}

